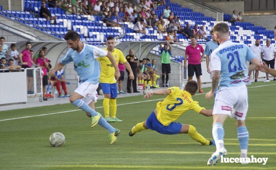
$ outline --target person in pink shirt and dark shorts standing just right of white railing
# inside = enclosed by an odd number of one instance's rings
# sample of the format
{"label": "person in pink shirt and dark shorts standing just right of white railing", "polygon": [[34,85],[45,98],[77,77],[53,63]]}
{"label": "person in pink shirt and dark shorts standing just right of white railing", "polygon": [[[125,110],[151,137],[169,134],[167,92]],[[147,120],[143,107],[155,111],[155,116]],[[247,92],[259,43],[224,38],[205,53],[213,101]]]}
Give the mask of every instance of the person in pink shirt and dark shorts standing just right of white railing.
{"label": "person in pink shirt and dark shorts standing just right of white railing", "polygon": [[43,77],[42,77],[42,94],[43,94],[43,100],[47,100],[45,97],[46,93],[46,86],[48,85],[48,76],[47,76],[47,68],[48,68],[48,59],[45,56],[45,53],[43,50],[40,50],[38,53],[38,58],[36,59],[35,64],[41,67],[43,71]]}

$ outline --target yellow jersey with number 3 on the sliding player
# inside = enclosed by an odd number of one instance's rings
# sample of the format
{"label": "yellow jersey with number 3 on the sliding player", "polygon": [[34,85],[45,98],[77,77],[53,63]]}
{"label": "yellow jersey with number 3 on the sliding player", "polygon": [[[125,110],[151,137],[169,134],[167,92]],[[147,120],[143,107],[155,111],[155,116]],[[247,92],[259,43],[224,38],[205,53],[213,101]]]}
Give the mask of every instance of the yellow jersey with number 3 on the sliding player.
{"label": "yellow jersey with number 3 on the sliding player", "polygon": [[162,125],[169,125],[190,109],[197,113],[205,109],[200,107],[198,102],[192,99],[188,91],[182,91],[179,87],[171,87],[168,89],[171,90],[171,94],[162,102],[156,104],[157,119]]}

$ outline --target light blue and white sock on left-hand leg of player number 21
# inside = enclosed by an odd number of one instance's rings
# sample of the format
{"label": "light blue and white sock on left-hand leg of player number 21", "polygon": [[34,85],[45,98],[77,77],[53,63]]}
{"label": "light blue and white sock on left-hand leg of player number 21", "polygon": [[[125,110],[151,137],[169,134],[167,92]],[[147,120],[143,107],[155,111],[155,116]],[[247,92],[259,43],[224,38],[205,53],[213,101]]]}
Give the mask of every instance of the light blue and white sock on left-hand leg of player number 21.
{"label": "light blue and white sock on left-hand leg of player number 21", "polygon": [[224,129],[221,123],[214,123],[213,129],[213,138],[216,142],[216,151],[220,150],[224,147],[223,137],[224,137]]}

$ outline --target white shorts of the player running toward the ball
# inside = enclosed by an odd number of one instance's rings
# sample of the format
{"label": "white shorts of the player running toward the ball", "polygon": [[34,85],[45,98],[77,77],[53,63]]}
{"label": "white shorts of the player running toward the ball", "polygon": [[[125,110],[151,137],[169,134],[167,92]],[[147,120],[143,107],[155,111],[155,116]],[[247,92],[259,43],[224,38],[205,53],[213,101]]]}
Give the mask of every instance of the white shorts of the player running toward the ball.
{"label": "white shorts of the player running toward the ball", "polygon": [[82,100],[86,104],[89,104],[92,100],[95,100],[96,103],[98,99],[98,93],[96,91],[98,86],[98,84],[93,84],[90,82],[78,83],[78,88],[74,92],[82,95]]}

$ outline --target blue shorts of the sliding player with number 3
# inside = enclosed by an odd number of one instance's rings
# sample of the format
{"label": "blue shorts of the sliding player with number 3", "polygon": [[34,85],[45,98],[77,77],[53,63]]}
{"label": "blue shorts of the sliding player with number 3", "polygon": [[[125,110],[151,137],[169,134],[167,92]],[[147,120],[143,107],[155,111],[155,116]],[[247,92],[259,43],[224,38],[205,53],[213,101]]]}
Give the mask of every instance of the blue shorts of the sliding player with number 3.
{"label": "blue shorts of the sliding player with number 3", "polygon": [[146,125],[150,130],[155,130],[160,134],[178,134],[182,128],[182,124],[176,122],[171,122],[168,126],[162,125],[157,120],[154,111],[149,115]]}

